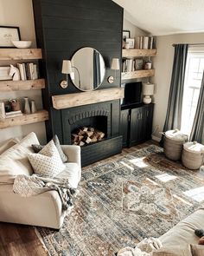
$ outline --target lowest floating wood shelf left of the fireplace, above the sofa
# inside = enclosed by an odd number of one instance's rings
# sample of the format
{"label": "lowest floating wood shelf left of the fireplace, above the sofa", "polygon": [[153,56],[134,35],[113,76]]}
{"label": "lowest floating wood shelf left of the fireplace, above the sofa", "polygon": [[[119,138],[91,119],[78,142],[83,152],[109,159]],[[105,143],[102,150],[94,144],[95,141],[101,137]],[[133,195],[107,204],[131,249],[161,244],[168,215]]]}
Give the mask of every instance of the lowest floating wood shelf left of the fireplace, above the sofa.
{"label": "lowest floating wood shelf left of the fireplace, above the sofa", "polygon": [[34,114],[23,114],[20,116],[0,120],[0,128],[9,128],[16,125],[24,125],[46,120],[48,120],[48,111],[40,110]]}

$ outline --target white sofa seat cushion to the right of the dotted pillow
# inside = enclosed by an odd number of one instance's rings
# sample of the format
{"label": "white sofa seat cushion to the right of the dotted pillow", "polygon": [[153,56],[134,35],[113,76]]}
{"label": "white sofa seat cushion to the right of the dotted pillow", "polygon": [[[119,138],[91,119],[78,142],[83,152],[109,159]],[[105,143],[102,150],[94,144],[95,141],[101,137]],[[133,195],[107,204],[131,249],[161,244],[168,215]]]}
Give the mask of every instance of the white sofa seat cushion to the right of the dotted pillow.
{"label": "white sofa seat cushion to the right of the dotted pillow", "polygon": [[77,188],[80,174],[80,167],[75,162],[65,163],[66,168],[56,177],[61,179],[68,179],[70,187]]}

